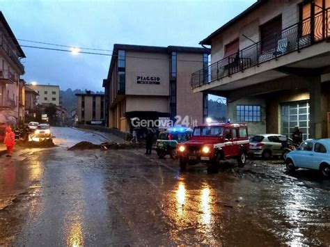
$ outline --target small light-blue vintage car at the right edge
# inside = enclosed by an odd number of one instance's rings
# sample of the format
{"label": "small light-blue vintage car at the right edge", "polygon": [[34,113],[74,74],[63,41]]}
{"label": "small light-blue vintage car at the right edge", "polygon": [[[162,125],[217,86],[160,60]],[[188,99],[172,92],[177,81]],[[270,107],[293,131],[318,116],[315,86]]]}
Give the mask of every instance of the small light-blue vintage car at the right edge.
{"label": "small light-blue vintage car at the right edge", "polygon": [[330,139],[306,140],[297,150],[285,155],[286,168],[293,172],[298,168],[320,170],[324,177],[330,176]]}

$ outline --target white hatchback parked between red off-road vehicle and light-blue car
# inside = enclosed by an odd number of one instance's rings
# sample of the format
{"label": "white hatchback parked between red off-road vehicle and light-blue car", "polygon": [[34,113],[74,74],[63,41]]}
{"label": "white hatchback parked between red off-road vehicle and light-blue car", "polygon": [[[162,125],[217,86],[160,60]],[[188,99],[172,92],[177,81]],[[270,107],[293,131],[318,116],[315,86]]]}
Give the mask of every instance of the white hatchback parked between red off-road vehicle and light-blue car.
{"label": "white hatchback parked between red off-road vehicle and light-blue car", "polygon": [[292,139],[281,134],[259,134],[250,138],[249,156],[270,159],[271,157],[284,157],[295,147]]}

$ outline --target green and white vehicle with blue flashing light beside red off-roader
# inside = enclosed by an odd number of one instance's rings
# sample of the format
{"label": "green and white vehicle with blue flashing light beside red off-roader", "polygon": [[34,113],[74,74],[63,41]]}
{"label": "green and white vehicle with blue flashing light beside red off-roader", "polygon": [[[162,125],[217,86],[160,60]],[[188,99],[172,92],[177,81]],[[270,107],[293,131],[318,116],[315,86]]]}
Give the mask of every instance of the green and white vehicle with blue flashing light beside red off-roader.
{"label": "green and white vehicle with blue flashing light beside red off-roader", "polygon": [[187,127],[173,127],[159,133],[156,142],[156,152],[159,158],[164,158],[167,154],[172,159],[177,157],[178,143],[188,141],[192,135],[192,129]]}

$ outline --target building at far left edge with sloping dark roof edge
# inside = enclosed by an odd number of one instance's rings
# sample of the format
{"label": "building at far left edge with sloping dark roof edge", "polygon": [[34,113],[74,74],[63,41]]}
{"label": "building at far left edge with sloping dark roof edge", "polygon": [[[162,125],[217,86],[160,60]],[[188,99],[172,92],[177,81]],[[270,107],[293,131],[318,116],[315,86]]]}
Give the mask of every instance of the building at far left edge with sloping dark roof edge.
{"label": "building at far left edge with sloping dark roof edge", "polygon": [[24,74],[21,58],[25,54],[0,11],[0,119],[5,124],[16,125],[22,116],[19,111],[19,77]]}

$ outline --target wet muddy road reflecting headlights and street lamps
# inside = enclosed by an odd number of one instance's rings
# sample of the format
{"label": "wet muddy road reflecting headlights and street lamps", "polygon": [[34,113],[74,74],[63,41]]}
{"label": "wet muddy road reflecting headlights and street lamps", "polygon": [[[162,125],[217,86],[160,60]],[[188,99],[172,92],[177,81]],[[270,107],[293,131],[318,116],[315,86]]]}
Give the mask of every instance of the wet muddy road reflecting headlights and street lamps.
{"label": "wet muddy road reflecting headlights and street lamps", "polygon": [[182,174],[144,150],[62,146],[0,158],[0,198],[13,200],[0,210],[0,244],[330,244],[330,181],[317,173],[250,161]]}

